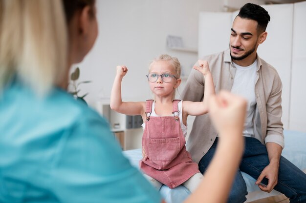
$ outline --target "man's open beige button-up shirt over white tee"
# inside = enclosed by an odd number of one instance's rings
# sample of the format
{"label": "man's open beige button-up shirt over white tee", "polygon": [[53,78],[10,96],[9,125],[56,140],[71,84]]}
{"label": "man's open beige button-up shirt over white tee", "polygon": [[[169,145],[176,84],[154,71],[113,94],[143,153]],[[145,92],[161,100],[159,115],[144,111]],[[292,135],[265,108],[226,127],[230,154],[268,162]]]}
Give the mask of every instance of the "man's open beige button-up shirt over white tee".
{"label": "man's open beige button-up shirt over white tee", "polygon": [[[206,56],[213,76],[216,94],[219,90],[230,91],[234,82],[236,68],[230,57],[230,50]],[[267,62],[257,56],[256,69],[256,109],[253,117],[255,138],[262,144],[275,142],[284,148],[284,134],[282,117],[282,81],[275,70]],[[182,97],[184,101],[203,101],[204,77],[196,70],[192,70]],[[187,150],[194,162],[199,162],[209,150],[217,137],[209,115],[197,116],[187,141]]]}

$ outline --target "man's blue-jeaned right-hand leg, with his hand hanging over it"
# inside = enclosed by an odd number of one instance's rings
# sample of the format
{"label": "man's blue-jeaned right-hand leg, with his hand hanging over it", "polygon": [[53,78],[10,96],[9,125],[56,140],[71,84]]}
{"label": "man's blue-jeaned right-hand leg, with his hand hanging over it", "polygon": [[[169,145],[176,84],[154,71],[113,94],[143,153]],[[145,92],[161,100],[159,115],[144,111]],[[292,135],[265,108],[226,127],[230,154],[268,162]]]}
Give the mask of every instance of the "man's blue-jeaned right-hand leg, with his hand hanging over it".
{"label": "man's blue-jeaned right-hand leg, with his hand hanging over it", "polygon": [[[255,138],[245,138],[245,151],[240,170],[257,179],[268,164],[265,145]],[[262,183],[267,184],[268,180],[264,178]],[[290,198],[290,203],[306,203],[306,174],[281,157],[278,183],[274,189]]]}

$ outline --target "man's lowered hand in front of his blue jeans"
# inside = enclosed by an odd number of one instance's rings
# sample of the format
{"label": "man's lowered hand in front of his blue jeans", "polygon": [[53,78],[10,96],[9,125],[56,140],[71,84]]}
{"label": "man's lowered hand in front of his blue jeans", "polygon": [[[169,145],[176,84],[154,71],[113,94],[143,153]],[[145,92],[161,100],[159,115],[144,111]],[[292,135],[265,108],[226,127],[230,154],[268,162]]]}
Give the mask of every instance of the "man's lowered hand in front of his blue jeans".
{"label": "man's lowered hand in front of his blue jeans", "polygon": [[[259,188],[264,192],[271,192],[278,181],[278,170],[279,164],[275,162],[270,162],[263,170],[261,175],[258,177],[255,184],[258,184]],[[261,184],[262,179],[268,179],[268,185],[265,186]]]}

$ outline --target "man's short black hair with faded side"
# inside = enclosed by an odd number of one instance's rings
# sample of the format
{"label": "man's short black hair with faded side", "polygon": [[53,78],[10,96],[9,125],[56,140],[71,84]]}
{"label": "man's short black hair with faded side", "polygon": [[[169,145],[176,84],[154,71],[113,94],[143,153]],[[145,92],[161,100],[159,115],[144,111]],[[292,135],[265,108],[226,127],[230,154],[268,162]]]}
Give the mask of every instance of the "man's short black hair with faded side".
{"label": "man's short black hair with faded side", "polygon": [[238,16],[241,19],[256,20],[258,23],[257,31],[259,34],[265,31],[265,28],[270,21],[268,12],[260,5],[253,3],[244,4],[244,6],[240,8]]}

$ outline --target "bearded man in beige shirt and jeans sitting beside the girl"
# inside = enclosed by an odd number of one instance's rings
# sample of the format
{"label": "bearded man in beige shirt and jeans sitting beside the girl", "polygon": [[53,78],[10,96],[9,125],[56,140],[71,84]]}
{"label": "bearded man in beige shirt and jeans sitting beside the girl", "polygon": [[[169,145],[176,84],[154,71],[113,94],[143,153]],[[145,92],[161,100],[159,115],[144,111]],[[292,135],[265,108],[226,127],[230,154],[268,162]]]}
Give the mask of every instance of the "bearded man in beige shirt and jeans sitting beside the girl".
{"label": "bearded man in beige shirt and jeans sitting beside the girl", "polygon": [[[282,117],[282,82],[275,70],[257,55],[257,48],[267,38],[270,16],[259,5],[247,3],[240,8],[232,28],[229,49],[206,56],[216,93],[226,89],[248,101],[243,136],[245,149],[233,183],[229,203],[246,200],[243,171],[257,181],[262,191],[275,189],[290,198],[290,203],[306,203],[306,174],[281,156],[284,148]],[[198,65],[198,64],[196,64]],[[203,100],[204,77],[192,71],[183,100]],[[204,173],[218,143],[218,133],[208,114],[197,116],[187,150]]]}

